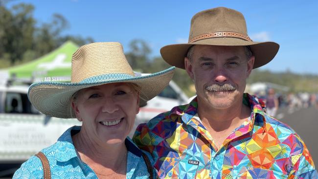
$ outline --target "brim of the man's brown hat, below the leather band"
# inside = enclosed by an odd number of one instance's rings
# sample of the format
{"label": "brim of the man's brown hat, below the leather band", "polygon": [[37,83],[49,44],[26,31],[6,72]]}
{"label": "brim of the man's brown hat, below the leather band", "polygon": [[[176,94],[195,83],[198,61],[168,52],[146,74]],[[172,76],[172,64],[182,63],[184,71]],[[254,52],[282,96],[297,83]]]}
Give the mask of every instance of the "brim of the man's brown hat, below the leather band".
{"label": "brim of the man's brown hat, below the leather band", "polygon": [[255,62],[253,68],[269,63],[278,52],[279,45],[274,42],[251,42],[236,38],[204,39],[191,44],[166,45],[160,49],[162,58],[171,66],[184,69],[184,57],[192,45],[247,46],[249,45]]}

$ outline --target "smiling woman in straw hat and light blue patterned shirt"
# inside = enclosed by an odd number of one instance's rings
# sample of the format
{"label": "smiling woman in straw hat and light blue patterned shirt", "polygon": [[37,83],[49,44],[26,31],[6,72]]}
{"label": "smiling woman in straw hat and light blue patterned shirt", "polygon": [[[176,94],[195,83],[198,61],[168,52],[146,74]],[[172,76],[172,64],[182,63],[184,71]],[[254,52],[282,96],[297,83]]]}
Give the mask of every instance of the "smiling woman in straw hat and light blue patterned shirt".
{"label": "smiling woman in straw hat and light blue patterned shirt", "polygon": [[76,117],[82,126],[71,127],[55,144],[24,162],[13,178],[155,178],[151,156],[127,136],[139,104],[159,94],[173,71],[171,67],[136,77],[121,44],[81,46],[72,56],[70,83],[34,83],[28,96],[40,112]]}

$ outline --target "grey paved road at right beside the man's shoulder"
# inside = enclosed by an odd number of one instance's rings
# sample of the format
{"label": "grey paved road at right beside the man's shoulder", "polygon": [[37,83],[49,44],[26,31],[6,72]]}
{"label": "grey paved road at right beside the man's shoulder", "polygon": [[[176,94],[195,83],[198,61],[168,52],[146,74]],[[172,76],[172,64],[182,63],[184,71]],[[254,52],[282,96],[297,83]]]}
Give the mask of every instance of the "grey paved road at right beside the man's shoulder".
{"label": "grey paved road at right beside the man's shoulder", "polygon": [[318,109],[309,107],[290,112],[282,109],[277,114],[280,121],[292,127],[305,141],[315,165],[318,166]]}

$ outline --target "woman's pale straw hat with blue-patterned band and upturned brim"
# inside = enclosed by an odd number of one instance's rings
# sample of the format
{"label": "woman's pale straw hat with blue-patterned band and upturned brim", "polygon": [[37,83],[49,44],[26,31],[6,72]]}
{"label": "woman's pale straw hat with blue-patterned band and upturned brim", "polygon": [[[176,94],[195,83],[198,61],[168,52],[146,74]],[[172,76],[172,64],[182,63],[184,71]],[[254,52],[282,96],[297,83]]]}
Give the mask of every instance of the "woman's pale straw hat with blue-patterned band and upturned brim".
{"label": "woman's pale straw hat with blue-patterned band and upturned brim", "polygon": [[134,83],[140,88],[140,105],[155,97],[171,80],[175,67],[135,76],[120,43],[92,43],[81,46],[72,56],[71,82],[37,82],[28,97],[40,112],[53,117],[73,118],[70,99],[78,90],[109,83]]}

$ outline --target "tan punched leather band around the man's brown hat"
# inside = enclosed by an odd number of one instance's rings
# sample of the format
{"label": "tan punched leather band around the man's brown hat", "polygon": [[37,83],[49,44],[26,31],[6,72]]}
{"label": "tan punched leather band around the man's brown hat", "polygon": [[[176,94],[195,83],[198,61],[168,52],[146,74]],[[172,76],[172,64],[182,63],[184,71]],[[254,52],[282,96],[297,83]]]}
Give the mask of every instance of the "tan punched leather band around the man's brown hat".
{"label": "tan punched leather band around the man's brown hat", "polygon": [[246,41],[252,41],[250,40],[249,36],[246,36],[244,34],[237,33],[237,32],[210,32],[207,34],[195,36],[194,38],[189,40],[189,43],[194,43],[196,41],[203,40],[203,39],[220,38],[220,37],[234,37],[234,38],[239,38]]}

